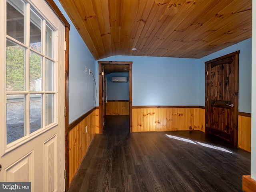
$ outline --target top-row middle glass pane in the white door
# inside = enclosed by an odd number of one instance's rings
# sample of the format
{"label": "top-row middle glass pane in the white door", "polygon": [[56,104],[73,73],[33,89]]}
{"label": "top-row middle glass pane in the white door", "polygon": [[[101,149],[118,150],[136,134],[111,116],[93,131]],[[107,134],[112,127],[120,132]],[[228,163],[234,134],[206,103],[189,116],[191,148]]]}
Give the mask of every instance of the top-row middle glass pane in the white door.
{"label": "top-row middle glass pane in the white door", "polygon": [[32,10],[30,10],[30,44],[29,46],[32,49],[37,50],[38,52],[42,52],[41,26],[42,26],[42,20]]}

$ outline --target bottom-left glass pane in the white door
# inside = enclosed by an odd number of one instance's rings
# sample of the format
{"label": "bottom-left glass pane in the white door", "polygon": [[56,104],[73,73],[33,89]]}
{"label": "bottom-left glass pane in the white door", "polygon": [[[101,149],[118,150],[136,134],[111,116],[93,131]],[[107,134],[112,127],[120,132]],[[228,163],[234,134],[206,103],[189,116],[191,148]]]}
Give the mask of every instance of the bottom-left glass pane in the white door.
{"label": "bottom-left glass pane in the white door", "polygon": [[19,138],[25,133],[25,96],[7,95],[6,103],[6,133],[7,144]]}

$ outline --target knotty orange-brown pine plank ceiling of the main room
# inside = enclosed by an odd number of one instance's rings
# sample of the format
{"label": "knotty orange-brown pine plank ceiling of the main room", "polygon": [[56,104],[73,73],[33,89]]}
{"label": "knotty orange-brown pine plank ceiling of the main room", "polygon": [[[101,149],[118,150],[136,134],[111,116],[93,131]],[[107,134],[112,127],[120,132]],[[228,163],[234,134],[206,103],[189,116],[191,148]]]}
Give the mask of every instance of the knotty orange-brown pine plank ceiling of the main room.
{"label": "knotty orange-brown pine plank ceiling of the main room", "polygon": [[252,0],[59,1],[96,60],[202,58],[252,35]]}

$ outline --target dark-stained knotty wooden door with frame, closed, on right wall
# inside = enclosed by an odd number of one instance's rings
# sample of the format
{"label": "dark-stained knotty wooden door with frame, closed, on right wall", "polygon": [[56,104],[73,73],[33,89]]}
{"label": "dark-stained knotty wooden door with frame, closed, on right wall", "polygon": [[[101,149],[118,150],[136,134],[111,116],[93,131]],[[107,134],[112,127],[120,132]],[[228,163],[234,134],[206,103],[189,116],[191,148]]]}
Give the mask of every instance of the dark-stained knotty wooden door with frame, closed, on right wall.
{"label": "dark-stained knotty wooden door with frame, closed, on right wall", "polygon": [[205,62],[206,133],[237,146],[239,51]]}

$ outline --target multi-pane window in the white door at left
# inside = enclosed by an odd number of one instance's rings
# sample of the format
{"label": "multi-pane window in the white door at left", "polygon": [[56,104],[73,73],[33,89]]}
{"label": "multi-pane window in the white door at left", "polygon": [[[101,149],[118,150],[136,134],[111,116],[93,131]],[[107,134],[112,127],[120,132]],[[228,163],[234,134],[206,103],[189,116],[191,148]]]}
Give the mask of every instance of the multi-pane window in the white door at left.
{"label": "multi-pane window in the white door at left", "polygon": [[10,144],[56,122],[56,32],[25,0],[7,0],[6,8],[6,144]]}

